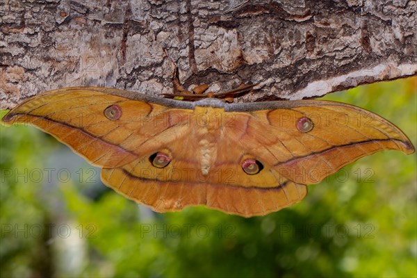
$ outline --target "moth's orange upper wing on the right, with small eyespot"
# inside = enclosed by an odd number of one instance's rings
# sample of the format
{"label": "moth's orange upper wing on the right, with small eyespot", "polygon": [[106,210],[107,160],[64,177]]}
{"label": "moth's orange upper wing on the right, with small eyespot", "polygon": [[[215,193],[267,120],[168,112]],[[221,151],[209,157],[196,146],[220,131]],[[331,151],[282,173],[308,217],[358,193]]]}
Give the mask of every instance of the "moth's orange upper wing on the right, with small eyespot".
{"label": "moth's orange upper wing on the right, with small eyespot", "polygon": [[[384,149],[414,152],[398,127],[356,106],[332,101],[297,102],[294,107],[253,115],[263,119],[265,128],[270,126],[268,136],[256,138],[263,159],[280,177],[296,183],[318,183],[341,167]],[[301,117],[313,122],[311,131],[297,129]],[[261,128],[259,122],[251,124],[247,139]]]}

